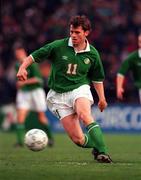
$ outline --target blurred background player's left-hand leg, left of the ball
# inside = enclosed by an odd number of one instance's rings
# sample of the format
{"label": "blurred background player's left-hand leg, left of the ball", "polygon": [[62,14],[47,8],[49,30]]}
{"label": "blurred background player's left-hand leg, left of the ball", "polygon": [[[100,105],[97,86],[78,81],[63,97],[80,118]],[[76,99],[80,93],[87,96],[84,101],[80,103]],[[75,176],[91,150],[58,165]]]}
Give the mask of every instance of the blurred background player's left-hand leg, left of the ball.
{"label": "blurred background player's left-hand leg, left of the ball", "polygon": [[17,123],[16,123],[16,135],[17,143],[15,146],[24,145],[24,135],[25,135],[25,119],[27,116],[27,109],[17,109]]}

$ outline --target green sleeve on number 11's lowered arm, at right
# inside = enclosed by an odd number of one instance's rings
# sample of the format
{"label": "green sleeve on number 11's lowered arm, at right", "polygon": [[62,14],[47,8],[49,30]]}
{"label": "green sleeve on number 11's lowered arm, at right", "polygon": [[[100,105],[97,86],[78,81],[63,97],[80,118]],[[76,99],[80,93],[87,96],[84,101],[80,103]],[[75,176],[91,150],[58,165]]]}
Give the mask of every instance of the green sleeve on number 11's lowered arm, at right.
{"label": "green sleeve on number 11's lowered arm, at right", "polygon": [[89,71],[89,78],[93,82],[102,82],[105,78],[103,65],[97,50],[95,53],[94,62]]}

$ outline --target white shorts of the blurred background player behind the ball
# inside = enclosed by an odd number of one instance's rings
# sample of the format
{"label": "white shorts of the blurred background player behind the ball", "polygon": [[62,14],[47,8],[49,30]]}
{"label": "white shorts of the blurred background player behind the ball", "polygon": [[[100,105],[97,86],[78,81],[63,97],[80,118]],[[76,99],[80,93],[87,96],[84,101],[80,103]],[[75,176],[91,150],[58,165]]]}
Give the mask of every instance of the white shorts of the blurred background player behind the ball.
{"label": "white shorts of the blurred background player behind the ball", "polygon": [[17,92],[16,97],[17,109],[34,110],[37,112],[46,111],[46,95],[42,88],[38,88],[32,91]]}

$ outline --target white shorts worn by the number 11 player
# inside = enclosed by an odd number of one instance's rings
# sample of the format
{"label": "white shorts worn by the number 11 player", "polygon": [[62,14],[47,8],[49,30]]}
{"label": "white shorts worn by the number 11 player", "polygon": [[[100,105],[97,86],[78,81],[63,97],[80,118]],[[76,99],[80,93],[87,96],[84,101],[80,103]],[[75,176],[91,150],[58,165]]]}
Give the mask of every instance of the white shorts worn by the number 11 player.
{"label": "white shorts worn by the number 11 player", "polygon": [[51,89],[47,95],[47,106],[49,110],[61,120],[75,113],[74,103],[75,100],[80,97],[89,99],[91,104],[93,104],[94,101],[89,85],[82,85],[73,91],[65,93],[57,93]]}

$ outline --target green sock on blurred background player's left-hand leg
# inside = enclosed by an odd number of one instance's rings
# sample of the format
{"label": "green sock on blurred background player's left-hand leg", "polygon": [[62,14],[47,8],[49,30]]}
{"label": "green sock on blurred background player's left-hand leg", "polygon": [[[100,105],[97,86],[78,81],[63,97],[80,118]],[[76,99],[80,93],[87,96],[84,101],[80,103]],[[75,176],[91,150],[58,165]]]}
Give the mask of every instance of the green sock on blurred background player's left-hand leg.
{"label": "green sock on blurred background player's left-hand leg", "polygon": [[17,141],[19,144],[24,144],[24,135],[25,135],[25,125],[24,124],[16,124],[16,135]]}

